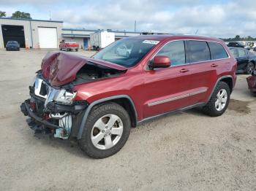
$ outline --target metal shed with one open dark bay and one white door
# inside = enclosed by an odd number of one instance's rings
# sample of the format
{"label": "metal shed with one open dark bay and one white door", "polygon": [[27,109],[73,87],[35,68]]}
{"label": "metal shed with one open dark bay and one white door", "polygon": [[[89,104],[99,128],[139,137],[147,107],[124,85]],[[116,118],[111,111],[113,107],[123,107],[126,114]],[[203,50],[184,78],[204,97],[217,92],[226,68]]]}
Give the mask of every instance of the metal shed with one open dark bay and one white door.
{"label": "metal shed with one open dark bay and one white door", "polygon": [[0,18],[0,48],[9,40],[20,47],[58,48],[63,21]]}

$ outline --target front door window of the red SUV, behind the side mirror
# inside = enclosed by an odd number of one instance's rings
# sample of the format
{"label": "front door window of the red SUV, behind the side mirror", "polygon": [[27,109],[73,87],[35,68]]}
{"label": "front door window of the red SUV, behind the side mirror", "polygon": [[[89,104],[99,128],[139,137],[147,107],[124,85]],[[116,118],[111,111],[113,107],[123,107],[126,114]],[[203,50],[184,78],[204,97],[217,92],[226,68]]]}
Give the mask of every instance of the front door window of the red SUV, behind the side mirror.
{"label": "front door window of the red SUV, behind the side mirror", "polygon": [[184,41],[173,41],[165,44],[157,55],[166,55],[170,58],[171,66],[186,63]]}

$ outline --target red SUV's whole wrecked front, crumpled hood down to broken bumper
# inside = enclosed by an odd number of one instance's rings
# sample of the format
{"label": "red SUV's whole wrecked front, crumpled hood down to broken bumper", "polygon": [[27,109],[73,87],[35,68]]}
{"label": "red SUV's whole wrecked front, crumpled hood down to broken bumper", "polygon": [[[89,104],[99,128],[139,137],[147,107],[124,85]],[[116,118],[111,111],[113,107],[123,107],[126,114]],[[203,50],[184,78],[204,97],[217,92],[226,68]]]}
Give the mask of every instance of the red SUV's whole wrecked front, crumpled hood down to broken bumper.
{"label": "red SUV's whole wrecked front, crumpled hood down to broken bumper", "polygon": [[85,100],[75,100],[75,85],[116,77],[126,70],[93,58],[49,52],[33,85],[29,86],[31,98],[21,104],[21,112],[31,118],[28,123],[35,133],[53,133],[61,139],[75,137],[89,106]]}

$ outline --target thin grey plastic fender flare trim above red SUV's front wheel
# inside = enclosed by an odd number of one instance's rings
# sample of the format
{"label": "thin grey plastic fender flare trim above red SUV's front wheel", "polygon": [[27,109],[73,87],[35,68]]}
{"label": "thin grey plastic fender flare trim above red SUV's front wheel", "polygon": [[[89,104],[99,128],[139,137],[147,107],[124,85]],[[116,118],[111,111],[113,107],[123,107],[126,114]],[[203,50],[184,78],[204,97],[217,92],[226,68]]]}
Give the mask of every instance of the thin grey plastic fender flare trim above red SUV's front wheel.
{"label": "thin grey plastic fender flare trim above red SUV's front wheel", "polygon": [[81,137],[82,137],[83,129],[86,128],[86,127],[85,127],[85,125],[86,125],[86,120],[87,120],[87,117],[89,116],[89,113],[91,112],[91,109],[92,109],[94,106],[96,106],[97,104],[101,104],[101,103],[104,103],[105,101],[111,101],[111,100],[118,99],[118,98],[127,98],[127,99],[129,100],[130,104],[132,104],[132,109],[135,111],[135,124],[137,124],[138,114],[137,114],[137,110],[136,110],[136,108],[135,108],[135,104],[134,104],[134,102],[132,101],[132,98],[130,98],[129,95],[113,95],[113,96],[110,96],[110,97],[107,97],[107,98],[99,99],[99,100],[94,101],[94,102],[92,102],[91,104],[89,104],[89,106],[88,106],[87,109],[86,109],[85,114],[83,115],[82,122],[80,123],[80,128],[79,128],[79,130],[78,130],[77,139],[81,139]]}

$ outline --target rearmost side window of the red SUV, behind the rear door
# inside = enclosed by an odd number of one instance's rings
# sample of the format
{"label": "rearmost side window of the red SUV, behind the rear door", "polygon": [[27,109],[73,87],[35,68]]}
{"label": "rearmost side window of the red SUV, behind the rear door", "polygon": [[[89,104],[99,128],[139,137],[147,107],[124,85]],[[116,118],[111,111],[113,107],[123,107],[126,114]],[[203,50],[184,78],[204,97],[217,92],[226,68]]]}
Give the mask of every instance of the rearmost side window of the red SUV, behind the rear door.
{"label": "rearmost side window of the red SUV, behind the rear door", "polygon": [[211,60],[227,58],[227,52],[222,44],[216,42],[208,42],[211,51]]}

